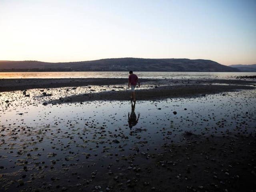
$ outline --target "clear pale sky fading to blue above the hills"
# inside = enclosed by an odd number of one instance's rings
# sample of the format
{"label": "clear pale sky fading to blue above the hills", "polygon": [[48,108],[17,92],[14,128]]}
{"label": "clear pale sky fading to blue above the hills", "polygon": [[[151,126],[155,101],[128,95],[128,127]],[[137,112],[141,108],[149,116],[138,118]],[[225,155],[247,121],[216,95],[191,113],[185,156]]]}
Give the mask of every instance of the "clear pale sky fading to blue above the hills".
{"label": "clear pale sky fading to blue above the hills", "polygon": [[256,0],[0,0],[0,60],[256,64]]}

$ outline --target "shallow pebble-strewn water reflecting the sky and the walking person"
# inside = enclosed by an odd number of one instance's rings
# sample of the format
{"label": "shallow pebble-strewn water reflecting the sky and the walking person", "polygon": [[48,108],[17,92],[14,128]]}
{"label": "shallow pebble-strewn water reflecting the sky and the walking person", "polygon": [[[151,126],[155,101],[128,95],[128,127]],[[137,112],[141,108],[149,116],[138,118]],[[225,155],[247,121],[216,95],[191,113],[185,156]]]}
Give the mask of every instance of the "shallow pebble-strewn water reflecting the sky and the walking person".
{"label": "shallow pebble-strewn water reflecting the sky and the walking person", "polygon": [[182,142],[186,131],[201,137],[256,134],[255,90],[137,101],[138,123],[132,128],[128,123],[130,101],[42,105],[60,95],[91,89],[97,92],[102,86],[44,90],[52,96],[42,96],[40,89],[28,90],[30,97],[21,91],[1,93],[0,166],[4,168],[0,173],[18,179],[26,166],[26,174],[32,174],[26,182],[39,172],[47,177],[47,172],[58,175],[83,166],[100,170],[131,153],[147,156],[164,143]]}

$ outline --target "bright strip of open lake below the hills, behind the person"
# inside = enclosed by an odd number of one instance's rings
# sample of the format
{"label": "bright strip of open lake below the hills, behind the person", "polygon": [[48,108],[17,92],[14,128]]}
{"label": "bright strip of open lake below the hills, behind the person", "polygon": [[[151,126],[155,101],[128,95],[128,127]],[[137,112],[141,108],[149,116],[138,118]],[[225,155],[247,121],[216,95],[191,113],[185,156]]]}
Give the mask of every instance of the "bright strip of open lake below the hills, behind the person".
{"label": "bright strip of open lake below the hills, behind the person", "polygon": [[[256,72],[134,72],[139,78],[198,79],[255,76]],[[127,78],[128,72],[0,72],[2,78]]]}

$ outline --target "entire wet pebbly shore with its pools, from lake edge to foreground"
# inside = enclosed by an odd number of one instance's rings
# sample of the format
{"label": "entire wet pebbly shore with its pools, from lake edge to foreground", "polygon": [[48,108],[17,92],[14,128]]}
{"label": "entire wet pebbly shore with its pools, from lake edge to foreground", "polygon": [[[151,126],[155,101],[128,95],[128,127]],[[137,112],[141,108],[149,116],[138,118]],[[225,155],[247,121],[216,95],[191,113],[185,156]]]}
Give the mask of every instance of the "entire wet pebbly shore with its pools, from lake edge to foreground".
{"label": "entire wet pebbly shore with its pools, from lake edge to foreground", "polygon": [[1,192],[256,191],[254,81],[73,80],[1,80]]}

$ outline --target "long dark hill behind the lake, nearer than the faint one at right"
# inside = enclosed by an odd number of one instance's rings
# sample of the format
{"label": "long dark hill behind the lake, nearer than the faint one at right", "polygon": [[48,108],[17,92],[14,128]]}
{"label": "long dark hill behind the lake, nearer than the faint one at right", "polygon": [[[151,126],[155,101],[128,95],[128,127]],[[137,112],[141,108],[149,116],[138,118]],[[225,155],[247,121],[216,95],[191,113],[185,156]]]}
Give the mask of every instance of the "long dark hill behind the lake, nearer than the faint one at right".
{"label": "long dark hill behind the lake, nearer than the faint one at right", "polygon": [[25,71],[179,71],[238,72],[236,68],[203,59],[111,58],[80,62],[0,61],[2,72]]}

